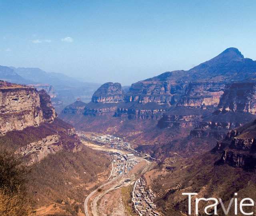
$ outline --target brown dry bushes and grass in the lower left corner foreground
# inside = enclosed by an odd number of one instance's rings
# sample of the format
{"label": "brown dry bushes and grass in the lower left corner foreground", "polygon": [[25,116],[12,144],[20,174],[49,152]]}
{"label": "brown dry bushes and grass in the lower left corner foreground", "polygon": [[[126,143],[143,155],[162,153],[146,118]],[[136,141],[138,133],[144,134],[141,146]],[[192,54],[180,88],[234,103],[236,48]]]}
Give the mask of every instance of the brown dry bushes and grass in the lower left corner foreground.
{"label": "brown dry bushes and grass in the lower left corner foreground", "polygon": [[26,196],[28,168],[20,157],[0,149],[0,215],[29,216],[34,210]]}

